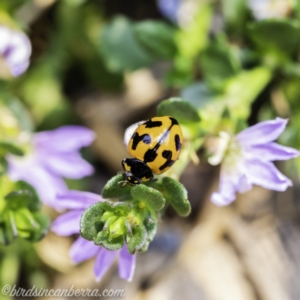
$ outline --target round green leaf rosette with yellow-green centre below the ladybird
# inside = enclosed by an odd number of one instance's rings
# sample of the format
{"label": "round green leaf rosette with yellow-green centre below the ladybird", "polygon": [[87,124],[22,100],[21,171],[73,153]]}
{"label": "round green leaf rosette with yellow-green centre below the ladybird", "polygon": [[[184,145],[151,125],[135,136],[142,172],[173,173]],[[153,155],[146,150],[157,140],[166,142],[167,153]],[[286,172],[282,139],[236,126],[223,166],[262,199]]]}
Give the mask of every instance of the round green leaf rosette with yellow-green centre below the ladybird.
{"label": "round green leaf rosette with yellow-green centre below the ladybird", "polygon": [[126,241],[133,254],[147,241],[143,218],[149,218],[151,213],[138,202],[99,202],[83,213],[80,233],[95,245],[112,251],[122,248]]}

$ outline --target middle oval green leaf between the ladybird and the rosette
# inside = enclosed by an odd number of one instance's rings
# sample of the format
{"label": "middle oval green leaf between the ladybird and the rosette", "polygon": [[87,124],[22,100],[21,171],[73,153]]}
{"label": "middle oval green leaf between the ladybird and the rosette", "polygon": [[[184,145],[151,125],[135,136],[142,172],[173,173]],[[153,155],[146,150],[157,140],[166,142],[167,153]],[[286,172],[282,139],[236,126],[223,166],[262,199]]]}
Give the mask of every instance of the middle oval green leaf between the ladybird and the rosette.
{"label": "middle oval green leaf between the ladybird and the rosette", "polygon": [[159,191],[143,184],[133,186],[130,193],[134,200],[146,202],[147,206],[154,210],[163,209],[166,203]]}

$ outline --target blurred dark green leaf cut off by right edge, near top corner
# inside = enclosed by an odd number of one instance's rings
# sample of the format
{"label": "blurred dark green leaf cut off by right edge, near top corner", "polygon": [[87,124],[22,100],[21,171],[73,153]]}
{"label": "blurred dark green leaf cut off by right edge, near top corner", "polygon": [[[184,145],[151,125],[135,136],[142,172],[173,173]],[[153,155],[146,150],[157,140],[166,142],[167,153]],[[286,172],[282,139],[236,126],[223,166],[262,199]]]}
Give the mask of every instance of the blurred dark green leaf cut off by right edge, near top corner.
{"label": "blurred dark green leaf cut off by right edge, near top corner", "polygon": [[300,44],[300,22],[288,19],[271,19],[249,26],[252,41],[262,52],[290,56]]}

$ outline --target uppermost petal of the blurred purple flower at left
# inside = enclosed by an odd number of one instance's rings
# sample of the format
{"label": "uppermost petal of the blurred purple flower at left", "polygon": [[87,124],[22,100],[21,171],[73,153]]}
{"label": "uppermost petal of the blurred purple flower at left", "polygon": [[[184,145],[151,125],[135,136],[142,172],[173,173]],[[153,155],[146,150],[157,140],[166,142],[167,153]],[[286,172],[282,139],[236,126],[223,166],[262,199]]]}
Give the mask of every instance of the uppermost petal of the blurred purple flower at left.
{"label": "uppermost petal of the blurred purple flower at left", "polygon": [[34,143],[38,148],[48,152],[69,153],[81,147],[89,146],[95,133],[83,126],[62,126],[55,130],[43,131],[34,135]]}

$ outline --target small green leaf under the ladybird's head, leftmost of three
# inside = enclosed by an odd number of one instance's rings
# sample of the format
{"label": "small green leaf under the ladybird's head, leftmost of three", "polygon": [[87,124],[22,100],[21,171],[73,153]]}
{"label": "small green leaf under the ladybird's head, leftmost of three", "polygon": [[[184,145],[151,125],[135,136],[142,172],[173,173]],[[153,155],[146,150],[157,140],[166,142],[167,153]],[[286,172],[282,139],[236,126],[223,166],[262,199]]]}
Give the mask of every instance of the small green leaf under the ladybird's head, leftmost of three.
{"label": "small green leaf under the ladybird's head, leftmost of three", "polygon": [[122,188],[122,182],[124,182],[125,178],[123,174],[118,174],[112,177],[104,186],[102,190],[102,197],[103,198],[119,198],[130,196],[130,189],[129,185],[126,185]]}

